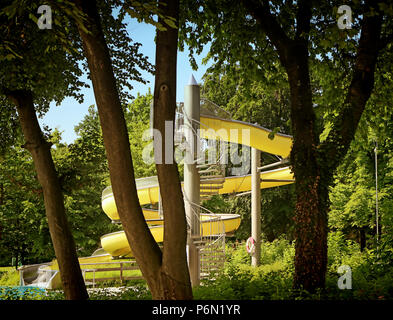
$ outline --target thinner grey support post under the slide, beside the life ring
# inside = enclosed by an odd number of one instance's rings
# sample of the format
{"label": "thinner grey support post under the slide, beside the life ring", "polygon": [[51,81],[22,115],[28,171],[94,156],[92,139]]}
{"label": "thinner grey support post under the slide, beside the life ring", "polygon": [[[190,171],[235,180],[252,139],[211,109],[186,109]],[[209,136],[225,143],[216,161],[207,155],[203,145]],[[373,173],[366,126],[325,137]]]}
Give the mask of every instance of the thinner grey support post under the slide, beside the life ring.
{"label": "thinner grey support post under the slide, beside the life ring", "polygon": [[261,175],[258,170],[261,152],[251,148],[251,237],[255,241],[251,265],[258,266],[261,259]]}

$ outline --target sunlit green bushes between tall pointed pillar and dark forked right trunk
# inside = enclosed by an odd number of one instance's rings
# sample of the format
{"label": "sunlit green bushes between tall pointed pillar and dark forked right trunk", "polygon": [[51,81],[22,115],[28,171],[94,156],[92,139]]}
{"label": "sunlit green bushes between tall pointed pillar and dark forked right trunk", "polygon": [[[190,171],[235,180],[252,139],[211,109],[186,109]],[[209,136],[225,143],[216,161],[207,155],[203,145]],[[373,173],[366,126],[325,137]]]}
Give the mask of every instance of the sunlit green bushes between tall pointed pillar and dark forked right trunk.
{"label": "sunlit green bushes between tall pointed pillar and dark forked right trunk", "polygon": [[194,289],[195,299],[289,299],[293,278],[294,247],[284,239],[263,242],[261,265],[250,266],[245,244],[227,247],[228,262],[214,280]]}

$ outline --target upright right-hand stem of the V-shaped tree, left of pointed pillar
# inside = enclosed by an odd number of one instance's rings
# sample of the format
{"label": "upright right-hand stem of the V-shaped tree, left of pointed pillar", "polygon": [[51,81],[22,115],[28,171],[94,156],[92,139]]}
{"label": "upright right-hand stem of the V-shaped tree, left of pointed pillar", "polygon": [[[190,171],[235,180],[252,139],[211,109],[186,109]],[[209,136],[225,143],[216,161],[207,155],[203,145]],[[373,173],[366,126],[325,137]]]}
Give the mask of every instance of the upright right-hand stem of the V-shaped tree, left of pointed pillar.
{"label": "upright right-hand stem of the V-shaped tree, left of pointed pillar", "polygon": [[[167,1],[162,13],[178,21],[179,1]],[[187,222],[177,164],[174,160],[173,129],[176,110],[176,61],[178,30],[165,25],[157,30],[154,90],[154,128],[162,135],[162,164],[156,164],[164,211],[162,281],[168,282],[163,299],[192,299],[187,266]],[[172,130],[165,130],[165,122]],[[168,150],[167,150],[168,148]],[[160,151],[160,150],[156,150]],[[166,154],[169,151],[169,154]]]}

